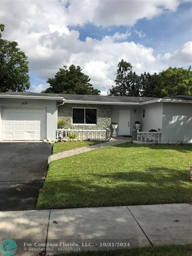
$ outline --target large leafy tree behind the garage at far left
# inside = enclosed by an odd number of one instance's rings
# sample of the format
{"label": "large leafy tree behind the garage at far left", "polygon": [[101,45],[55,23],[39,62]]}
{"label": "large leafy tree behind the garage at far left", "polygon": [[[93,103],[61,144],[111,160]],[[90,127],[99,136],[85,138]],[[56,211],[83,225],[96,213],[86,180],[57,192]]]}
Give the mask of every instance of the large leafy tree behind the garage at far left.
{"label": "large leafy tree behind the garage at far left", "polygon": [[29,89],[29,67],[17,42],[0,39],[0,92]]}

